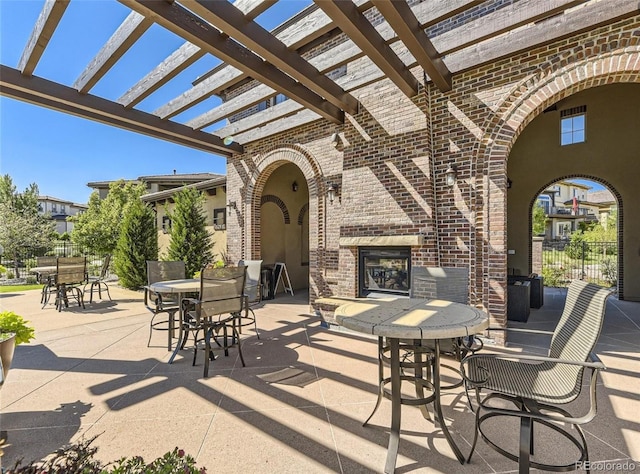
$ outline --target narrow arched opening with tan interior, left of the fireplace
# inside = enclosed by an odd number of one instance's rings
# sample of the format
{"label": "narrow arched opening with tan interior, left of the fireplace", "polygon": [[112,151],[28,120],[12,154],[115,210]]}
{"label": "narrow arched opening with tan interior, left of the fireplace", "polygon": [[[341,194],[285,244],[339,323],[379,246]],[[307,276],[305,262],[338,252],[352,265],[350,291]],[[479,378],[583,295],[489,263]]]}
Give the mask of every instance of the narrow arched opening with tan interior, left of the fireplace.
{"label": "narrow arched opening with tan interior, left of the fireplace", "polygon": [[[260,258],[284,263],[294,290],[309,287],[309,187],[293,163],[273,169],[260,197]],[[283,291],[279,285],[276,291]]]}

